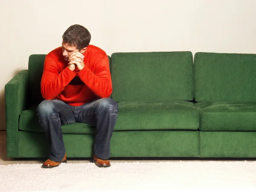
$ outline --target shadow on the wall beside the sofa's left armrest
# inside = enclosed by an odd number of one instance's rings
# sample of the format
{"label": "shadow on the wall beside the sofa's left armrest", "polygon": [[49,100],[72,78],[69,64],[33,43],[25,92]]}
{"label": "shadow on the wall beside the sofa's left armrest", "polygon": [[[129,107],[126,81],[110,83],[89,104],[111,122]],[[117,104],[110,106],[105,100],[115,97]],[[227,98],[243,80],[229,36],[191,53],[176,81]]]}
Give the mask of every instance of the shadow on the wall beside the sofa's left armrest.
{"label": "shadow on the wall beside the sofa's left armrest", "polygon": [[[23,70],[23,69],[16,70],[13,73],[12,77],[17,75],[21,70]],[[9,80],[11,80],[12,77]],[[4,92],[4,87],[0,91],[0,130],[6,130],[6,111],[5,111],[5,92]]]}

